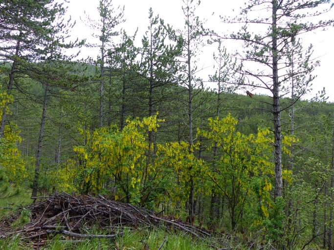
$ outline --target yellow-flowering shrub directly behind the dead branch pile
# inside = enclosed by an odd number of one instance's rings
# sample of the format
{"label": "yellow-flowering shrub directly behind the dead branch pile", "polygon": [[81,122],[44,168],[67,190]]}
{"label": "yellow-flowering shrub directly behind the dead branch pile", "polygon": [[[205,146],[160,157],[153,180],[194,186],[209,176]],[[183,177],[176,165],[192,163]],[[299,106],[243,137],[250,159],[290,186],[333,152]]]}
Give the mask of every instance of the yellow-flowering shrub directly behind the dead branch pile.
{"label": "yellow-flowering shrub directly behind the dead branch pile", "polygon": [[[81,192],[108,189],[115,198],[138,205],[159,200],[168,183],[160,152],[149,146],[148,133],[159,127],[156,116],[126,120],[89,133],[81,129],[85,145],[73,148],[78,165],[76,186]],[[156,146],[160,148],[160,146]]]}

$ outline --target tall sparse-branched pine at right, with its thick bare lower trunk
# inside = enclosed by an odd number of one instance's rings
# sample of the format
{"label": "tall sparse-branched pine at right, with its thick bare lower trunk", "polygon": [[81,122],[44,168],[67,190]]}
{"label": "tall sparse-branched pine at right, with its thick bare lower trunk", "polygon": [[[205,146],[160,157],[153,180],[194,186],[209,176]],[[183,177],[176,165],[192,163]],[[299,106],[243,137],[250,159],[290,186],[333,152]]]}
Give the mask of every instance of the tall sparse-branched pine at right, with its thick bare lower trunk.
{"label": "tall sparse-branched pine at right, with its thick bare lower trunk", "polygon": [[[287,85],[291,78],[288,73],[292,66],[289,61],[291,52],[287,48],[291,41],[298,41],[302,34],[333,23],[333,20],[320,20],[321,14],[328,11],[321,10],[321,6],[328,3],[328,0],[249,0],[240,17],[232,21],[223,18],[223,21],[243,25],[239,32],[230,37],[244,43],[244,51],[237,53],[243,64],[240,70],[245,77],[243,85],[265,89],[272,97],[268,111],[273,115],[275,135],[275,197],[282,196],[281,113],[291,105],[281,104],[282,97],[289,93]],[[313,79],[311,73],[317,62],[311,60],[312,46],[292,53],[295,54],[293,77],[303,79],[307,76],[304,82],[298,83],[298,91],[295,86],[295,93],[299,93],[294,97],[294,101],[297,101],[310,87]]]}

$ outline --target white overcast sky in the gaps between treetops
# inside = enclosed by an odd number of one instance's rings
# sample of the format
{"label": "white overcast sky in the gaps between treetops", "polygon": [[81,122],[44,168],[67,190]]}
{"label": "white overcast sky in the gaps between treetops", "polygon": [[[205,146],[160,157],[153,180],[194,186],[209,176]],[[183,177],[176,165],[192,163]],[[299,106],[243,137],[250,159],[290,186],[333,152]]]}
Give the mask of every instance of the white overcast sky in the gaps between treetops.
{"label": "white overcast sky in the gaps between treetops", "polygon": [[[196,0],[194,0],[196,1]],[[134,31],[138,27],[138,33],[136,38],[136,45],[140,46],[141,38],[149,25],[148,13],[149,8],[152,7],[154,16],[159,15],[165,23],[173,25],[174,28],[183,28],[184,20],[182,14],[182,0],[113,0],[113,6],[125,6],[124,17],[126,22],[122,24],[122,28],[128,35],[133,35]],[[234,17],[239,13],[239,8],[244,4],[245,0],[202,0],[200,7],[196,11],[196,15],[200,17],[200,20],[207,20],[205,27],[215,30],[218,34],[227,33],[226,25],[224,25],[219,18],[222,16]],[[91,39],[92,30],[85,26],[80,21],[80,17],[85,18],[84,11],[91,18],[96,17],[98,19],[97,6],[99,0],[69,0],[68,14],[71,15],[72,20],[76,20],[77,24],[74,27],[73,37],[79,39]],[[233,11],[233,9],[235,11]],[[212,13],[214,15],[212,16]],[[327,14],[328,19],[334,19],[334,8]],[[332,70],[334,70],[334,29],[329,28],[326,31],[317,31],[317,33],[309,34],[303,40],[304,47],[307,47],[312,43],[314,53],[313,58],[320,60],[320,66],[317,67],[313,75],[317,75],[317,78],[312,82],[313,95],[317,91],[326,88],[328,101],[334,102],[334,78],[332,76]],[[229,52],[229,46],[231,43],[224,42]],[[212,68],[212,53],[217,45],[212,48],[206,48],[201,57],[199,68],[204,67],[201,77],[205,81],[208,74],[214,74]],[[89,54],[95,58],[97,52],[93,52],[89,49],[82,48],[83,57],[87,57]],[[232,50],[230,51],[232,52]],[[256,91],[255,91],[256,92]],[[308,98],[311,96],[308,96]]]}

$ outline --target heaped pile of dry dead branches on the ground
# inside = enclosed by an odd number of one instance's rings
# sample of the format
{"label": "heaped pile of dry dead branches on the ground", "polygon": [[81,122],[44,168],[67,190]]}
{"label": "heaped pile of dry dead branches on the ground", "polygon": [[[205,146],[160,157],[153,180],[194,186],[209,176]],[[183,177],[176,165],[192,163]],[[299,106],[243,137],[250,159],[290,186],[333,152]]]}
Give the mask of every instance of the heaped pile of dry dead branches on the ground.
{"label": "heaped pile of dry dead branches on the ground", "polygon": [[[1,238],[14,234],[32,241],[52,238],[55,234],[73,238],[114,238],[121,235],[125,228],[143,226],[181,230],[196,237],[209,236],[209,233],[189,223],[167,219],[148,209],[109,200],[101,195],[73,196],[57,192],[35,202],[28,209],[31,211],[31,221],[20,230],[1,230]],[[2,222],[5,223],[9,224]],[[92,228],[108,233],[91,234]]]}

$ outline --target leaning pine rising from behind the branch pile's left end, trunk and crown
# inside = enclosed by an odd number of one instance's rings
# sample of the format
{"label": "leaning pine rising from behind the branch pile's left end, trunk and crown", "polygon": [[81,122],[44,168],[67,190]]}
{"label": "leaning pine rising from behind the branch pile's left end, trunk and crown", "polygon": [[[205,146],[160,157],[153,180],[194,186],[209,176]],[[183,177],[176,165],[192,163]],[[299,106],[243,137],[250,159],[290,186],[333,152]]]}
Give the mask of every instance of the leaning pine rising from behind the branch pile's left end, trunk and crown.
{"label": "leaning pine rising from behind the branch pile's left end, trunk and crown", "polygon": [[45,125],[47,119],[47,107],[52,97],[54,87],[62,89],[71,89],[73,83],[78,82],[78,77],[71,75],[69,68],[70,61],[73,56],[65,56],[64,49],[70,49],[74,46],[81,46],[84,41],[66,42],[68,38],[68,29],[73,28],[75,23],[64,21],[66,9],[60,5],[59,11],[56,13],[56,18],[50,24],[50,39],[45,42],[44,50],[41,51],[42,62],[31,64],[31,72],[29,76],[38,83],[44,86],[43,108],[36,147],[35,174],[33,178],[32,197],[37,195],[40,179],[40,167],[42,148],[44,145]]}

